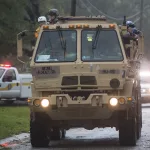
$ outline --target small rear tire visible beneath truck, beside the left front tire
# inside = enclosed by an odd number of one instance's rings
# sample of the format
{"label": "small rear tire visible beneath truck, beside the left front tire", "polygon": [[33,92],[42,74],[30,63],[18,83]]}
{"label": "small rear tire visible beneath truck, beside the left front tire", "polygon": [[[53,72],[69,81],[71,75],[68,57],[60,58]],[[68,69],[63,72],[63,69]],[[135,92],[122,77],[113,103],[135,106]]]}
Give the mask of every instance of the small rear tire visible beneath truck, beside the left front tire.
{"label": "small rear tire visible beneath truck, beside the left front tire", "polygon": [[63,137],[63,131],[60,128],[58,127],[52,128],[51,140],[61,140],[62,137]]}

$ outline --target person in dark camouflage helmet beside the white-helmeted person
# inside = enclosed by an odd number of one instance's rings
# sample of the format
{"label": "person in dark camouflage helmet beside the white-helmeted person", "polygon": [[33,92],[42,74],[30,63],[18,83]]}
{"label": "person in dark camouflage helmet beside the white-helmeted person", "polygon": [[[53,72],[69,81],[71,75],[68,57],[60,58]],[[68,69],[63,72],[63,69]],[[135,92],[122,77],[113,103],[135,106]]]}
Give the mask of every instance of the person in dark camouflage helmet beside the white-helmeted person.
{"label": "person in dark camouflage helmet beside the white-helmeted person", "polygon": [[50,9],[48,12],[48,22],[50,24],[55,24],[58,21],[59,12],[57,9]]}

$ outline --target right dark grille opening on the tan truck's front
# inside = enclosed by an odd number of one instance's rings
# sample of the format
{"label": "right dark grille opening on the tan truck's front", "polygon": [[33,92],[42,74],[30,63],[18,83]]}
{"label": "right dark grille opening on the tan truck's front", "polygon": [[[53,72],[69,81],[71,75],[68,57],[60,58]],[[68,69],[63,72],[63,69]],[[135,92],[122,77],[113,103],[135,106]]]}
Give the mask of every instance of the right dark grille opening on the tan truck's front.
{"label": "right dark grille opening on the tan truck's front", "polygon": [[97,85],[95,76],[80,76],[81,85]]}

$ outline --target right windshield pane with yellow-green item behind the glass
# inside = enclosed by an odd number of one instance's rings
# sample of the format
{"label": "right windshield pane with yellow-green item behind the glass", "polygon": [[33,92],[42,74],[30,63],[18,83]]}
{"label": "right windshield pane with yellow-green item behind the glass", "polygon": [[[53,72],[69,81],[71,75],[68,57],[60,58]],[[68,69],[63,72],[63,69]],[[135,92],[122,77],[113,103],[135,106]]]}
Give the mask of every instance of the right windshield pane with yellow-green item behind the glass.
{"label": "right windshield pane with yellow-green item behind the glass", "polygon": [[[123,55],[115,30],[82,30],[82,61],[122,61]],[[96,44],[95,44],[96,43]]]}

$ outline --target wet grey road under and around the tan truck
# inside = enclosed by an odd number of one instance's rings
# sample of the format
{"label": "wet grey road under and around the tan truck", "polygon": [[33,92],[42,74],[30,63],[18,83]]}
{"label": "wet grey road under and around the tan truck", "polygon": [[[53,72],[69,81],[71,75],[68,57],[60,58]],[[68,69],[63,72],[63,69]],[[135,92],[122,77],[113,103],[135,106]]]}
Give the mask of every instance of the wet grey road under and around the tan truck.
{"label": "wet grey road under and around the tan truck", "polygon": [[[114,128],[94,130],[78,128],[68,130],[65,139],[50,142],[49,148],[40,148],[40,150],[150,150],[150,107],[144,107],[142,111],[142,136],[135,147],[120,146],[118,132]],[[12,149],[37,150],[31,147],[29,138],[13,146]]]}

